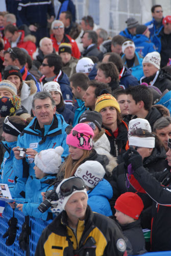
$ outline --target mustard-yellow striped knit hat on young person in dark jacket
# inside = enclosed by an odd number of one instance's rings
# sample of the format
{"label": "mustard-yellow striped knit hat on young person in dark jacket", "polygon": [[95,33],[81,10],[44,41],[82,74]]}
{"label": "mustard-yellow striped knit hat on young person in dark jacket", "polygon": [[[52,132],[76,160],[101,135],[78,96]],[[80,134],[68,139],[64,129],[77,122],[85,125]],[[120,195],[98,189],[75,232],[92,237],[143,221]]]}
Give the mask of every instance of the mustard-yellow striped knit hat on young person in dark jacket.
{"label": "mustard-yellow striped knit hat on young person in dark jacket", "polygon": [[101,96],[97,97],[94,110],[100,112],[107,106],[113,106],[120,113],[119,103],[111,94],[102,94]]}

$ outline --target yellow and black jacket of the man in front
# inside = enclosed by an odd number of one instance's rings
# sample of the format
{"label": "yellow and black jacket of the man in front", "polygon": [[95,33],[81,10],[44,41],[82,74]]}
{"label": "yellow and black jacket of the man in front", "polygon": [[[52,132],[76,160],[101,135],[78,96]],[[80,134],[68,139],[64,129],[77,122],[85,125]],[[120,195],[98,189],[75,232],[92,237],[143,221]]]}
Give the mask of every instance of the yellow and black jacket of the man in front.
{"label": "yellow and black jacket of the man in front", "polygon": [[126,243],[123,233],[112,219],[92,212],[87,206],[84,221],[78,222],[77,236],[67,225],[65,211],[42,232],[35,256],[121,256]]}

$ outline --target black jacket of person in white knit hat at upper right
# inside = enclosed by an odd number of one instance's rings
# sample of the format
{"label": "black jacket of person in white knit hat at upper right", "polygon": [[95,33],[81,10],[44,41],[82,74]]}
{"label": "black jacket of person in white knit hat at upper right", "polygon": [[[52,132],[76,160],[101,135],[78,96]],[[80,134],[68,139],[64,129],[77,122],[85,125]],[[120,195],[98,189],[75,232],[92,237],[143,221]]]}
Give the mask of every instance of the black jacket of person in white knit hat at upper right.
{"label": "black jacket of person in white knit hat at upper right", "polygon": [[[153,76],[150,76],[150,77],[141,77],[140,83],[146,82],[146,83],[150,84],[154,80],[155,76],[156,76],[156,74]],[[168,89],[170,91],[171,90],[171,75],[161,69],[156,81],[152,85],[157,87],[162,93],[166,89]]]}

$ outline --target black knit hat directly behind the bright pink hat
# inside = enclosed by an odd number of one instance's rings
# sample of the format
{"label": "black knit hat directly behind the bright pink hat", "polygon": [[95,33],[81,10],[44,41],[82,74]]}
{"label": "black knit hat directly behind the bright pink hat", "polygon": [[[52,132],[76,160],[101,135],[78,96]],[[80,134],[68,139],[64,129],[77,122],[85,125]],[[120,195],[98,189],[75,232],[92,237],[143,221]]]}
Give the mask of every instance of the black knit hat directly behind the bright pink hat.
{"label": "black knit hat directly behind the bright pink hat", "polygon": [[80,116],[79,123],[93,122],[101,131],[102,130],[102,115],[97,111],[85,111]]}

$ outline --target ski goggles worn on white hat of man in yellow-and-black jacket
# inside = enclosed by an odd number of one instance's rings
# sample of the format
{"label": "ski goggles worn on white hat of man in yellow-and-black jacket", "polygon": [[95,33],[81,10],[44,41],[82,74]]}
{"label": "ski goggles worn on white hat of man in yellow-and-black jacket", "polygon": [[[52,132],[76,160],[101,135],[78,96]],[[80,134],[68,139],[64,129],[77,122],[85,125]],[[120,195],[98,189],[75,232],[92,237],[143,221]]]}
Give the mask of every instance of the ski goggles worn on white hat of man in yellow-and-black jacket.
{"label": "ski goggles worn on white hat of man in yellow-and-black jacket", "polygon": [[63,197],[67,197],[74,190],[83,190],[85,189],[84,181],[80,177],[75,177],[69,180],[64,181],[60,186],[60,194]]}

